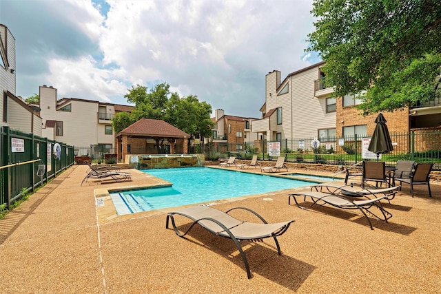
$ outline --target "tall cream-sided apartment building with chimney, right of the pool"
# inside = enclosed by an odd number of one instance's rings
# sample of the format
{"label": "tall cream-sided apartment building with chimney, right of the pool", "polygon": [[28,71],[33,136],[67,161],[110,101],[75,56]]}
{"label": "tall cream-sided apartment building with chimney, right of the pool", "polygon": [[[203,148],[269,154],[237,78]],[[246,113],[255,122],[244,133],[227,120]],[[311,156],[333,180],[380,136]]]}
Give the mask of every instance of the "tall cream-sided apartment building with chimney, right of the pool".
{"label": "tall cream-sided apartment building with chimney, right of the pool", "polygon": [[[265,76],[262,118],[252,121],[256,143],[336,136],[336,98],[329,97],[333,90],[322,82],[325,75],[320,68],[324,64],[292,72],[283,81],[278,70]],[[292,144],[289,149],[298,148],[297,143]]]}

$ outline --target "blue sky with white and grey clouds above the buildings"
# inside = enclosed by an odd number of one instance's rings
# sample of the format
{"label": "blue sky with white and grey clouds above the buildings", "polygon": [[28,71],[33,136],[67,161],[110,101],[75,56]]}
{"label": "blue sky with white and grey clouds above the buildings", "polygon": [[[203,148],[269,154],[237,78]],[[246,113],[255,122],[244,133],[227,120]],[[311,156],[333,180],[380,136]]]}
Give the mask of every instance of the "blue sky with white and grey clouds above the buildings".
{"label": "blue sky with white and grey clouds above the buildings", "polygon": [[0,0],[16,39],[17,96],[127,104],[166,82],[225,114],[260,117],[265,74],[317,63],[305,53],[313,0]]}

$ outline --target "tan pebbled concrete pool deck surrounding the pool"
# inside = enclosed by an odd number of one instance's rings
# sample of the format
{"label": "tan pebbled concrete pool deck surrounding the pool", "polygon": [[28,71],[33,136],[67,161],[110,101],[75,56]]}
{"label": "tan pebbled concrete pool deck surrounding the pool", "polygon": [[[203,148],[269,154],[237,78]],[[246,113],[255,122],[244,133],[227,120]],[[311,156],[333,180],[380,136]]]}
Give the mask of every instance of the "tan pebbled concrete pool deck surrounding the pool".
{"label": "tan pebbled concrete pool deck surrounding the pool", "polygon": [[244,243],[248,280],[231,240],[165,229],[172,209],[114,216],[108,200],[96,206],[109,188],[161,180],[131,170],[132,182],[80,187],[87,169],[68,169],[0,220],[1,293],[440,293],[438,182],[433,198],[424,186],[411,198],[404,186],[384,204],[389,223],[372,220],[373,231],[357,212],[289,206],[286,190],[217,202],[221,210],[249,207],[268,222],[296,220],[278,238],[281,256],[272,240]]}

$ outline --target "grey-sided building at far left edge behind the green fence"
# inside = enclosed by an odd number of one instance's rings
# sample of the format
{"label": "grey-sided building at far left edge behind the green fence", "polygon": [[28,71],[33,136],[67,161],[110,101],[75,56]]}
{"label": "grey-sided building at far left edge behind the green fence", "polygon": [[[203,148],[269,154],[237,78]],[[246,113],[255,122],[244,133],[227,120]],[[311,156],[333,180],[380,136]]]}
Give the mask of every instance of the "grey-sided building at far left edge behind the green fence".
{"label": "grey-sided building at far left edge behind the green fence", "polygon": [[15,96],[15,39],[6,25],[0,24],[0,127],[8,126],[23,133],[42,135],[39,109]]}

